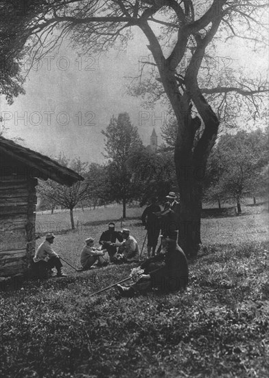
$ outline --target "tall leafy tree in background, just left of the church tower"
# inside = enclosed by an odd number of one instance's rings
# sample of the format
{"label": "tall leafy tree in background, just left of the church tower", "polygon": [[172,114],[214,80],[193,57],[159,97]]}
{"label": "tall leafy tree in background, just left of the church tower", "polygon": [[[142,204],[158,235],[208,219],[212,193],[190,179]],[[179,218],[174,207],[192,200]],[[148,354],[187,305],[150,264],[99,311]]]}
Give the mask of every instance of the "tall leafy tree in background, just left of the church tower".
{"label": "tall leafy tree in background, just left of the church tower", "polygon": [[107,168],[108,198],[122,203],[122,216],[126,218],[126,204],[137,197],[129,159],[141,147],[142,141],[128,113],[120,113],[117,118],[113,116],[102,134],[106,137],[104,156],[110,159]]}

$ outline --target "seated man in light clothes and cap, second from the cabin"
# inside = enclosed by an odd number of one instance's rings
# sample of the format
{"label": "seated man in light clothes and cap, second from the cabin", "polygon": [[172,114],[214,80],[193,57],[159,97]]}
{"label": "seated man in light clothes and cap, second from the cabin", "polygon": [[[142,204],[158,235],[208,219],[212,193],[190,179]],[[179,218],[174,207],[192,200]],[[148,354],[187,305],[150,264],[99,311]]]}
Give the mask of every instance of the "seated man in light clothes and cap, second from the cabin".
{"label": "seated man in light clothes and cap, second from the cabin", "polygon": [[96,262],[98,266],[105,267],[106,265],[108,265],[108,261],[106,261],[103,257],[104,252],[106,251],[100,251],[100,249],[93,247],[94,238],[86,238],[85,242],[86,245],[82,249],[80,256],[80,263],[83,269],[90,269],[90,267],[93,266],[93,264]]}

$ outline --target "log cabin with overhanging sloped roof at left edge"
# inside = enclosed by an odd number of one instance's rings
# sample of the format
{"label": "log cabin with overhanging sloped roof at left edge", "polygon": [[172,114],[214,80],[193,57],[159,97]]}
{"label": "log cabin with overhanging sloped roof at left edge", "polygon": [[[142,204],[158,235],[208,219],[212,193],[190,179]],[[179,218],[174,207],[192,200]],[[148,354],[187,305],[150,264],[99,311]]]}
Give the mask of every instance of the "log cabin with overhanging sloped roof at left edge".
{"label": "log cabin with overhanging sloped roof at left edge", "polygon": [[0,277],[26,274],[36,236],[37,179],[71,186],[83,177],[49,157],[0,137]]}

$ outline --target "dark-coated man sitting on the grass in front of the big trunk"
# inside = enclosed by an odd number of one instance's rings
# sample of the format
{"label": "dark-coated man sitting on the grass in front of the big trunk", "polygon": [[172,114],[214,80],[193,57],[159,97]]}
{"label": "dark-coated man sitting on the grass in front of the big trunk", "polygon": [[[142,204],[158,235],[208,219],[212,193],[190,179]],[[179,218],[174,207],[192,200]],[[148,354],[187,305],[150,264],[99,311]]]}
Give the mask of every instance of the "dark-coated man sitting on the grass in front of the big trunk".
{"label": "dark-coated man sitting on the grass in front of the big trunk", "polygon": [[[171,236],[162,236],[161,245],[159,255],[141,264],[144,274],[137,282],[129,287],[117,285],[121,296],[132,298],[137,293],[145,293],[153,288],[167,293],[187,287],[189,269],[183,250]],[[156,269],[161,262],[163,264]]]}

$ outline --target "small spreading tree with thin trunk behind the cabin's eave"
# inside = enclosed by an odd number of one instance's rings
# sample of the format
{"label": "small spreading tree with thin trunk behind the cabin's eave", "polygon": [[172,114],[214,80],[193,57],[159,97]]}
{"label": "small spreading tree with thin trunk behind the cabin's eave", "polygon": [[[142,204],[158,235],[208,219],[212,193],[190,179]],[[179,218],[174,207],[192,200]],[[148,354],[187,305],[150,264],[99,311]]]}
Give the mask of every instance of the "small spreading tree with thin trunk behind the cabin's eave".
{"label": "small spreading tree with thin trunk behind the cabin's eave", "polygon": [[[60,156],[57,161],[62,166],[69,166],[69,168],[73,169],[75,172],[86,177],[88,164],[82,162],[79,158],[73,159],[72,162],[70,162],[65,156]],[[39,180],[38,184],[38,192],[41,198],[46,202],[50,201],[55,205],[69,209],[71,228],[74,230],[73,209],[80,201],[89,198],[89,179],[86,178],[84,181],[78,181],[72,186],[60,185],[52,180]]]}

